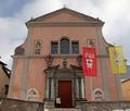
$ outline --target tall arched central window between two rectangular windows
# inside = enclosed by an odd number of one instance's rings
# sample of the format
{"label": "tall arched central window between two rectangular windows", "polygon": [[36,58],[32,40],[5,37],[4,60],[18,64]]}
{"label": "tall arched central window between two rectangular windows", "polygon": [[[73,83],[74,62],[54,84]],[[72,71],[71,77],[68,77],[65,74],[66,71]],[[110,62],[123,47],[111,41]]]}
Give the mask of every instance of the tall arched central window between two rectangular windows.
{"label": "tall arched central window between two rectangular windows", "polygon": [[60,53],[61,54],[68,54],[69,53],[69,40],[67,38],[61,39]]}

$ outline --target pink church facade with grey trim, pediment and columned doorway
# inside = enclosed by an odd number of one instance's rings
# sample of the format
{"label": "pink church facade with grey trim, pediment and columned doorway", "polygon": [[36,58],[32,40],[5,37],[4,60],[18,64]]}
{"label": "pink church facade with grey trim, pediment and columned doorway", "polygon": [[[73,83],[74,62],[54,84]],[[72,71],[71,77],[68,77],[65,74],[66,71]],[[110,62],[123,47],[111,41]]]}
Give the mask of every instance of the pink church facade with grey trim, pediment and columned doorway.
{"label": "pink church facade with grey trim, pediment and columned doorway", "polygon": [[[81,101],[122,100],[120,83],[112,74],[104,22],[67,8],[31,18],[28,35],[15,49],[8,97],[78,108]],[[96,49],[98,76],[82,74],[82,47]]]}

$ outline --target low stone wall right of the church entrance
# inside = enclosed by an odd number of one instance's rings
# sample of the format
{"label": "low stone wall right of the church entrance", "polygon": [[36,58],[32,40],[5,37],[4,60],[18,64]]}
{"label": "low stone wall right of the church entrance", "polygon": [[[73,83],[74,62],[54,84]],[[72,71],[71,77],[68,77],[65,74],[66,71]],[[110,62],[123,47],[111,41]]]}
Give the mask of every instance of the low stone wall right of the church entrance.
{"label": "low stone wall right of the church entrance", "polygon": [[130,101],[82,102],[81,111],[130,111]]}

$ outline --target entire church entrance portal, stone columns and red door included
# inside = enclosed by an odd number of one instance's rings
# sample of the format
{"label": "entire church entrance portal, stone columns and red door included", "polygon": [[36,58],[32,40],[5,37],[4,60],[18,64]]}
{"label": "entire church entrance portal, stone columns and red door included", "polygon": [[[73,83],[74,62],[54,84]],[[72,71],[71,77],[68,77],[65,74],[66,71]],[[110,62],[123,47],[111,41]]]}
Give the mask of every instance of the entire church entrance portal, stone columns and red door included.
{"label": "entire church entrance portal, stone columns and red door included", "polygon": [[[64,62],[64,61],[63,61]],[[70,65],[49,66],[46,72],[46,108],[54,108],[56,97],[61,98],[62,108],[80,108],[84,98],[82,69]]]}

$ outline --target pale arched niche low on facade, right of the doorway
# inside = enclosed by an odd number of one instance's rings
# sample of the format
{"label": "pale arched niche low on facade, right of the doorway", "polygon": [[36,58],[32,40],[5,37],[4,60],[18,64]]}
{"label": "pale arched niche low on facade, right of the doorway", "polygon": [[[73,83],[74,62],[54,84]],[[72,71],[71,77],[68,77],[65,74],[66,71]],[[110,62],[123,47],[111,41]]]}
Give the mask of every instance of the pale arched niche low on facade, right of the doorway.
{"label": "pale arched niche low on facade, right of the doorway", "polygon": [[104,99],[103,90],[100,88],[94,89],[93,91],[93,100],[102,101]]}

